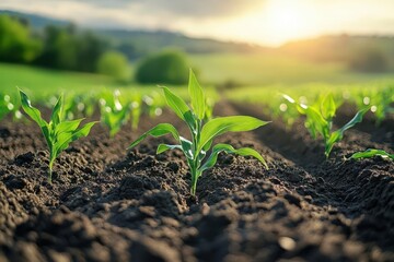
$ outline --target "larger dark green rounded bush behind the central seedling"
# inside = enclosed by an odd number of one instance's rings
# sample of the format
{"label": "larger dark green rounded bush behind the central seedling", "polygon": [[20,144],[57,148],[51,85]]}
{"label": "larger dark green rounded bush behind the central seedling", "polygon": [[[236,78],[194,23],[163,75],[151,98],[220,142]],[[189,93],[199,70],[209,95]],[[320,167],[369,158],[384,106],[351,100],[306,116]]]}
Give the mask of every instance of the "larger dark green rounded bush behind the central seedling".
{"label": "larger dark green rounded bush behind the central seedling", "polygon": [[143,84],[186,84],[188,64],[178,51],[163,51],[146,58],[137,68],[136,81]]}

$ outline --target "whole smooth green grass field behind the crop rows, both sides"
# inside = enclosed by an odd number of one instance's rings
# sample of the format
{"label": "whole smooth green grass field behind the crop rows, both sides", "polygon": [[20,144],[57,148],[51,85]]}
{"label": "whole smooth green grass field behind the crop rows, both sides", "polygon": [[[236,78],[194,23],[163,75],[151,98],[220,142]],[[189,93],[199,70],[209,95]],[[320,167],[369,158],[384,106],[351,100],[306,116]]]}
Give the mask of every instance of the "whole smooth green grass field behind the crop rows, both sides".
{"label": "whole smooth green grass field behind the crop rows, both sides", "polygon": [[[370,88],[394,83],[394,75],[350,73],[339,63],[312,63],[276,53],[216,53],[194,55],[190,64],[197,70],[205,87],[233,82],[242,88],[225,91],[230,99],[269,100],[280,93],[315,94],[335,90]],[[149,94],[157,85],[119,84],[111,78],[39,69],[28,66],[0,63],[0,92],[16,92],[16,86],[30,95],[47,97],[60,92],[100,92],[118,88],[125,94]],[[173,87],[173,86],[170,86]],[[187,90],[177,87],[181,96]],[[215,92],[211,92],[215,96]]]}

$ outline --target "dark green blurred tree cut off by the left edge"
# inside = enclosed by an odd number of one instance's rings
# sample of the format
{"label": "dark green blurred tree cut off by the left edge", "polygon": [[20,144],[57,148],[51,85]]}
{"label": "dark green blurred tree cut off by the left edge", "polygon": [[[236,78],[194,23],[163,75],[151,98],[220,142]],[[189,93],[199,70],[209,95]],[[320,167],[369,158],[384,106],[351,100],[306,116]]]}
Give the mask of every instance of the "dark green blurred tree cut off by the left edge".
{"label": "dark green blurred tree cut off by the left edge", "polygon": [[27,63],[35,59],[42,45],[20,20],[0,15],[0,61]]}

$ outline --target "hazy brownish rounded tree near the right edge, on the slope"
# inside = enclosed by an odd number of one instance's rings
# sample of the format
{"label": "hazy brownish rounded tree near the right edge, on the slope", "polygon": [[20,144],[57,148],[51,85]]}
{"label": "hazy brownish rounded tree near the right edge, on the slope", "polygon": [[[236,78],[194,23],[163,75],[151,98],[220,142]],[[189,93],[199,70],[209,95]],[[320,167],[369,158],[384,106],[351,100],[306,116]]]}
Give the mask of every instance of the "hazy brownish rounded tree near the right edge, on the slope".
{"label": "hazy brownish rounded tree near the right edge, on the slope", "polygon": [[352,53],[349,67],[355,71],[379,73],[387,71],[389,63],[378,48],[362,48]]}

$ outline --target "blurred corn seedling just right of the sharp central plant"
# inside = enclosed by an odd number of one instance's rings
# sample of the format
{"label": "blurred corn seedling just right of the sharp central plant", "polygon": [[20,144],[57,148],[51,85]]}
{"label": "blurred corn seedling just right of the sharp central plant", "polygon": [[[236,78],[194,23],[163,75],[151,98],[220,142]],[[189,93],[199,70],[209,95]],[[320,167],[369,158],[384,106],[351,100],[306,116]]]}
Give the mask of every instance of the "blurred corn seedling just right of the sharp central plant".
{"label": "blurred corn seedling just right of the sharp central plant", "polygon": [[317,102],[312,106],[299,104],[288,95],[283,95],[283,97],[291,104],[296,105],[300,114],[306,116],[305,127],[310,131],[312,138],[316,139],[317,134],[323,136],[325,144],[324,154],[327,158],[334,144],[344,138],[344,132],[352,128],[356,123],[361,122],[363,115],[369,110],[369,108],[366,108],[358,111],[356,116],[344,127],[332,132],[333,118],[335,117],[337,109],[332,94],[320,97],[320,99],[317,99]]}

